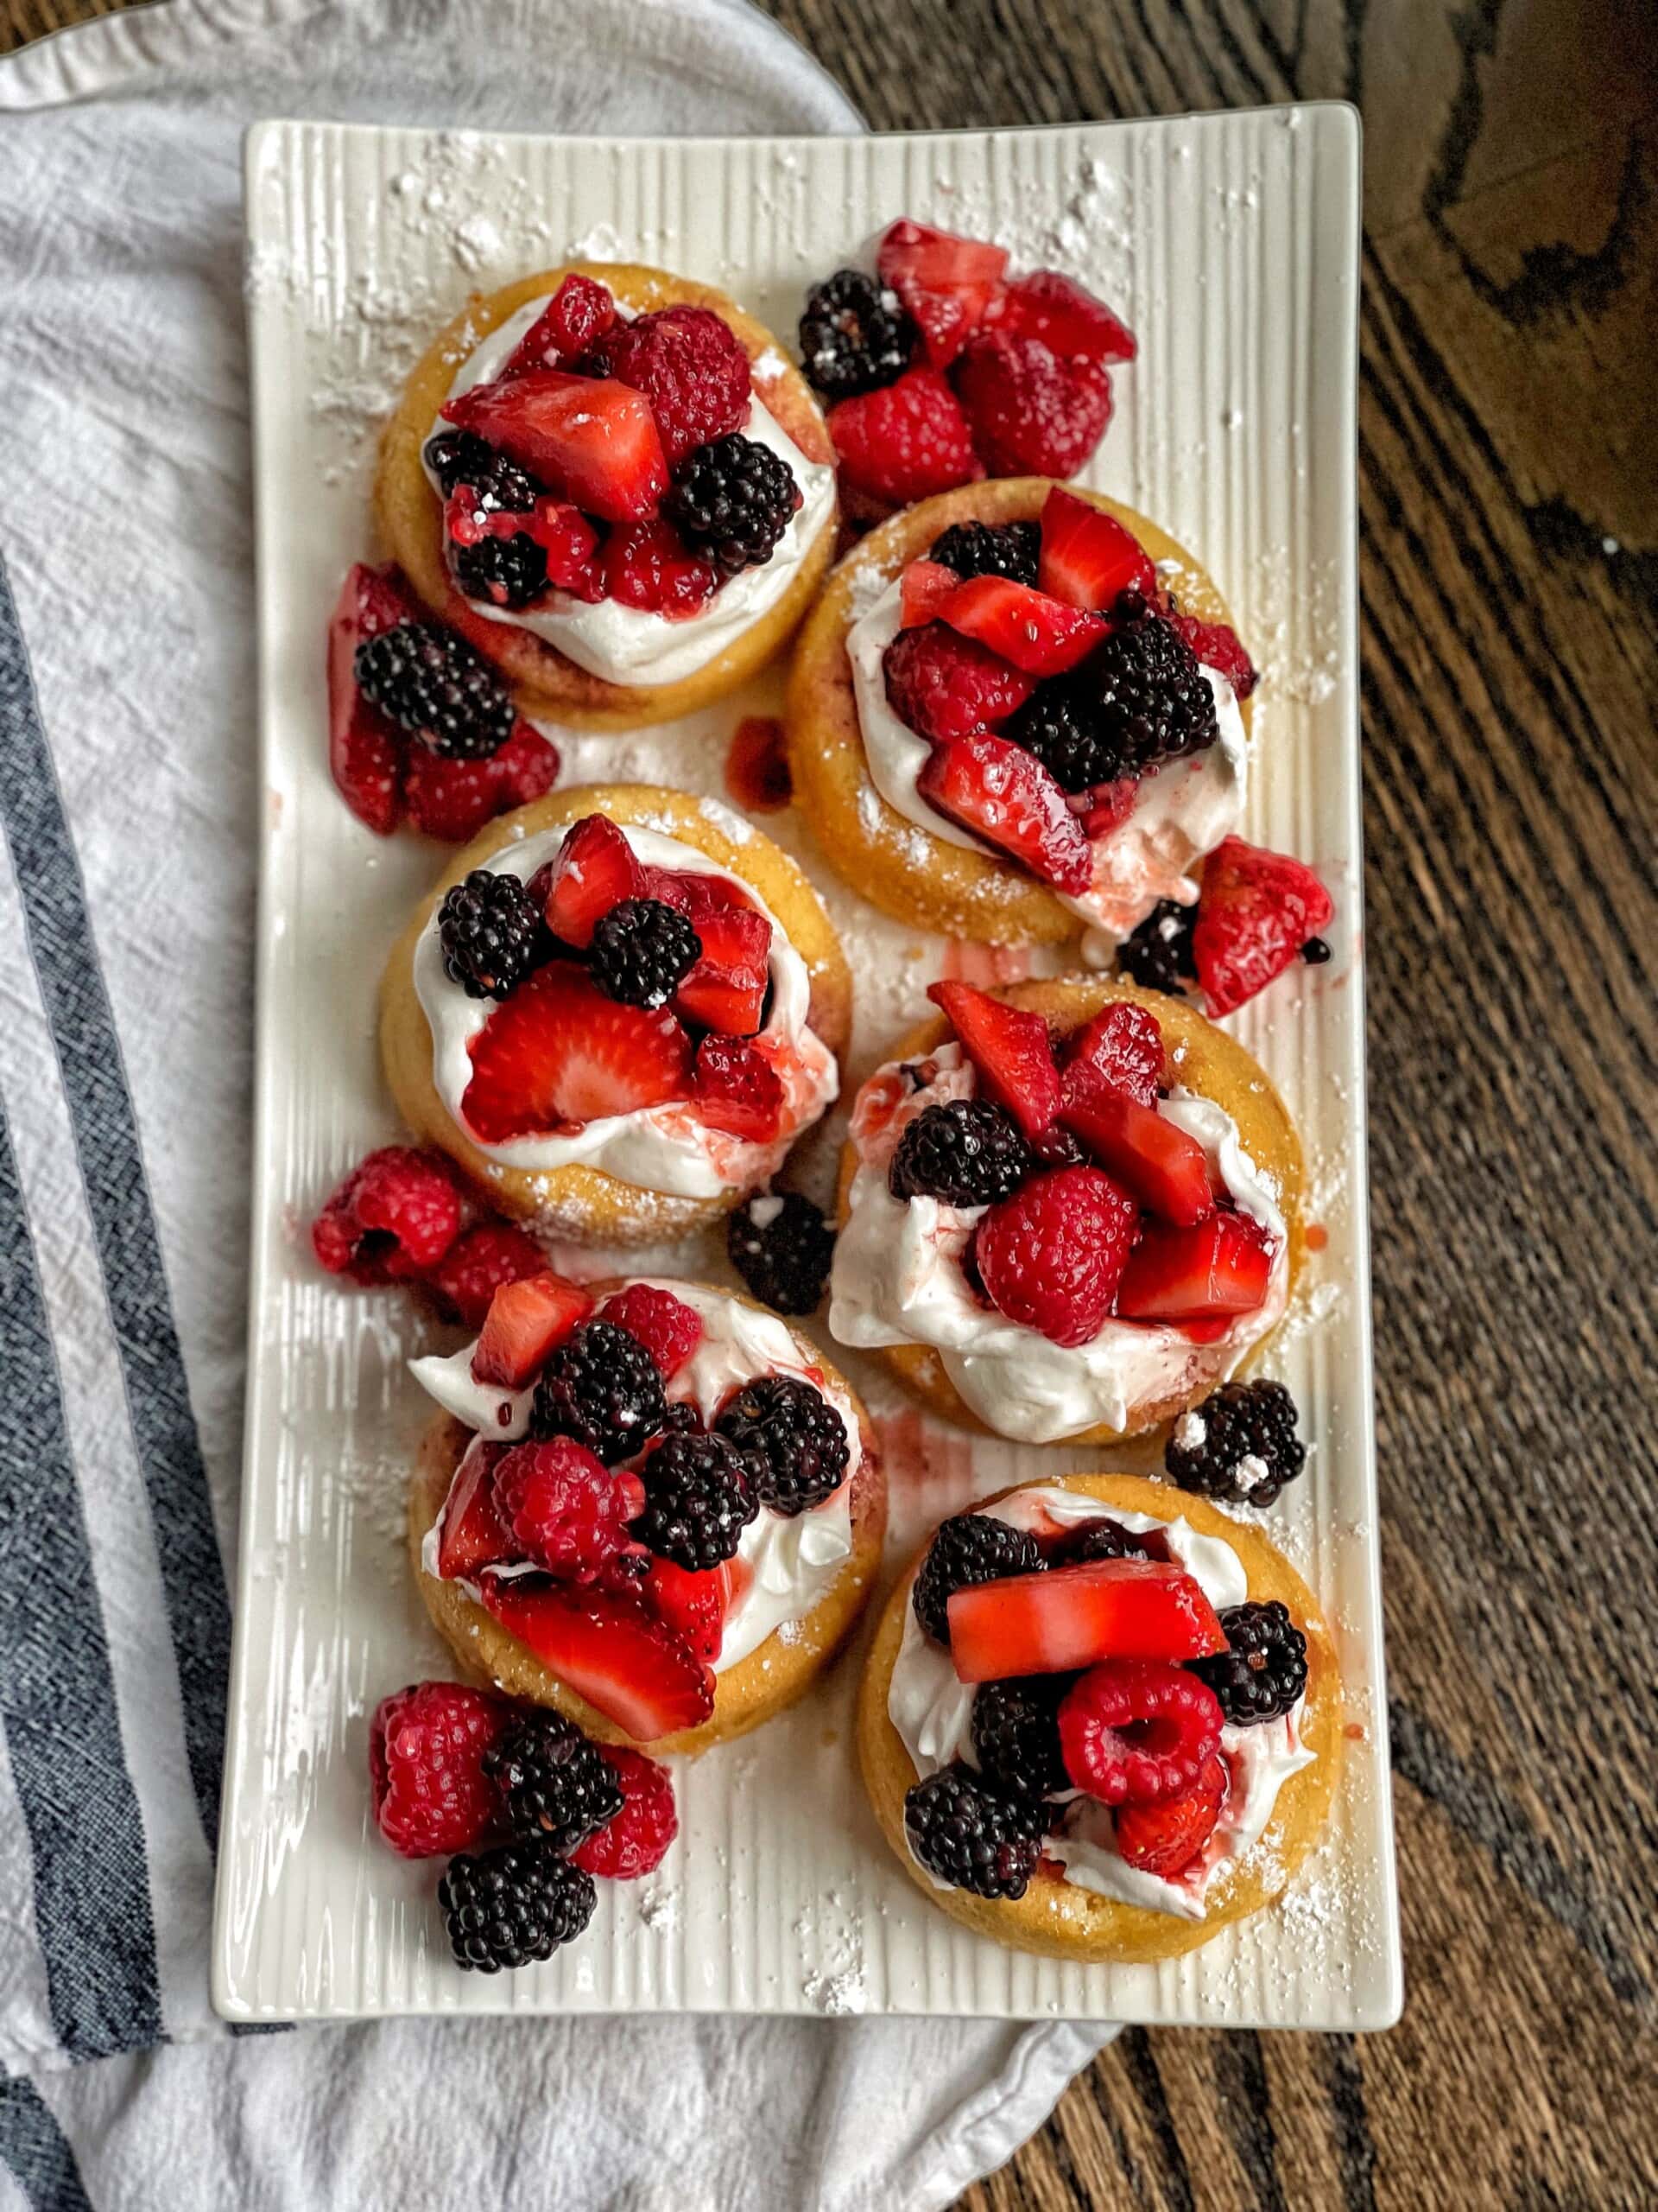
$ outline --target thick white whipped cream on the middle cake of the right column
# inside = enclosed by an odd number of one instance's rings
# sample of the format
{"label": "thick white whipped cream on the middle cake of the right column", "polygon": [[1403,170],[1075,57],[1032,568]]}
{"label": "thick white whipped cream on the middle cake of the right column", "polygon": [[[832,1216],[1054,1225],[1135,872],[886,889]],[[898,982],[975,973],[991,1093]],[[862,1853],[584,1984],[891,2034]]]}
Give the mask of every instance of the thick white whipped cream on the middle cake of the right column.
{"label": "thick white whipped cream on the middle cake of the right column", "polygon": [[977,1091],[977,1071],[955,1042],[942,1044],[924,1066],[933,1071],[928,1082],[909,1091],[891,1115],[867,1102],[902,1088],[898,1064],[878,1068],[853,1108],[858,1172],[829,1279],[836,1343],[860,1352],[933,1345],[979,1420],[1021,1444],[1052,1444],[1096,1422],[1127,1429],[1143,1407],[1176,1396],[1203,1398],[1236,1374],[1284,1310],[1289,1237],[1267,1177],[1222,1106],[1187,1091],[1158,1099],[1158,1113],[1198,1139],[1234,1203],[1276,1237],[1265,1301],[1207,1345],[1192,1343],[1169,1323],[1114,1318],[1085,1345],[1054,1345],[973,1294],[962,1259],[984,1206],[895,1199],[886,1188],[893,1150],[915,1115]]}

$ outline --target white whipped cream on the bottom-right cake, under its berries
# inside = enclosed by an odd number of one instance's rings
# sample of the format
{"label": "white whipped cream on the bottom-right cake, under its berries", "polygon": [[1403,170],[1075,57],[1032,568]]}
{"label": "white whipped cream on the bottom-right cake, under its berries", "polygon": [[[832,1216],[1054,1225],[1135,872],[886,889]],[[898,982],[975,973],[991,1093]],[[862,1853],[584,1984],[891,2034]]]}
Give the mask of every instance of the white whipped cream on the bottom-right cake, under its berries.
{"label": "white whipped cream on the bottom-right cake, under its berries", "polygon": [[[1249,1582],[1231,1544],[1214,1535],[1198,1535],[1185,1520],[1163,1522],[1150,1513],[1119,1513],[1099,1498],[1050,1484],[1015,1491],[990,1506],[979,1506],[979,1511],[1010,1528],[1028,1531],[1054,1524],[1072,1528],[1094,1520],[1114,1520],[1130,1535],[1156,1528],[1169,1557],[1192,1575],[1216,1613],[1225,1606],[1240,1606],[1249,1597]],[[1101,1898],[1116,1898],[1123,1905],[1141,1905],[1145,1911],[1174,1913],[1178,1920],[1203,1920],[1211,1882],[1267,1834],[1278,1792],[1291,1774],[1300,1774],[1318,1756],[1300,1739],[1304,1705],[1307,1699],[1298,1699],[1282,1719],[1262,1721],[1256,1728],[1234,1728],[1231,1721],[1222,1725],[1220,1752],[1231,1781],[1220,1820],[1200,1858],[1185,1867],[1176,1880],[1150,1874],[1145,1867],[1130,1867],[1116,1849],[1110,1805],[1101,1805],[1099,1798],[1083,1792],[1066,1801],[1059,1834],[1043,1840],[1046,1856],[1057,1858],[1066,1869],[1066,1880],[1077,1882],[1079,1889],[1092,1889]],[[973,1683],[959,1681],[951,1655],[933,1644],[915,1619],[913,1606],[904,1608],[904,1639],[898,1646],[886,1690],[886,1714],[902,1736],[920,1781],[957,1759],[977,1767]],[[920,1860],[915,1863],[920,1865]],[[922,1867],[922,1874],[933,1887],[946,1887],[928,1867]]]}

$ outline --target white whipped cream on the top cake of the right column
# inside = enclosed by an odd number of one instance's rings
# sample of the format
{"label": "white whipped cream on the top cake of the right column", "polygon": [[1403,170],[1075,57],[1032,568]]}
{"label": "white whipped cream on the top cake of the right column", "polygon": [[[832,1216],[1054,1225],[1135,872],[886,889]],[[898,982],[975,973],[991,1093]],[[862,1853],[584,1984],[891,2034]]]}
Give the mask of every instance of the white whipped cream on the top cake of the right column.
{"label": "white whipped cream on the top cake of the right column", "polygon": [[[858,728],[864,737],[869,779],[904,821],[995,860],[1008,854],[973,836],[948,814],[928,805],[917,776],[933,750],[909,723],[900,721],[886,699],[884,655],[898,637],[902,619],[902,584],[895,580],[847,633],[851,686],[858,699]],[[1203,670],[1214,692],[1218,739],[1205,752],[1165,761],[1141,776],[1134,805],[1116,827],[1092,841],[1094,880],[1072,898],[1054,891],[1092,931],[1116,945],[1130,936],[1161,898],[1189,907],[1198,885],[1189,869],[1205,852],[1229,836],[1242,821],[1249,787],[1249,741],[1231,684],[1218,668]]]}

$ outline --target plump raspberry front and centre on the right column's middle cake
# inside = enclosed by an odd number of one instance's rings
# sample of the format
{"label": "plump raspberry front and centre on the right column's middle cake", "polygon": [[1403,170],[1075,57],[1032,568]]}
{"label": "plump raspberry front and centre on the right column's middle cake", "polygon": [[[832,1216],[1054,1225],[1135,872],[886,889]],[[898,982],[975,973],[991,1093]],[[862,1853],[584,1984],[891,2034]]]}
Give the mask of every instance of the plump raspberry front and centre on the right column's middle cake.
{"label": "plump raspberry front and centre on the right column's middle cake", "polygon": [[1099,1168],[1052,1168],[979,1221],[973,1256],[997,1312],[1054,1345],[1092,1343],[1112,1310],[1141,1210]]}

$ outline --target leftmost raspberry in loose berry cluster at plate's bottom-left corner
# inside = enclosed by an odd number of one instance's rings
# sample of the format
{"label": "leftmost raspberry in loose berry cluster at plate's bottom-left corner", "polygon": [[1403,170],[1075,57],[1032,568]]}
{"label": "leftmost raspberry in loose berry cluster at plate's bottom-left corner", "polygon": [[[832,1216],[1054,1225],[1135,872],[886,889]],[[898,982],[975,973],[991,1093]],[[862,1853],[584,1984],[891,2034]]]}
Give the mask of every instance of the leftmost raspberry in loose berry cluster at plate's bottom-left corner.
{"label": "leftmost raspberry in loose berry cluster at plate's bottom-left corner", "polygon": [[500,1697],[458,1681],[420,1681],[380,1699],[369,1721],[369,1787],[393,1851],[466,1851],[502,1825],[484,1759],[511,1721]]}

